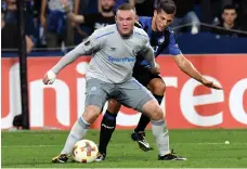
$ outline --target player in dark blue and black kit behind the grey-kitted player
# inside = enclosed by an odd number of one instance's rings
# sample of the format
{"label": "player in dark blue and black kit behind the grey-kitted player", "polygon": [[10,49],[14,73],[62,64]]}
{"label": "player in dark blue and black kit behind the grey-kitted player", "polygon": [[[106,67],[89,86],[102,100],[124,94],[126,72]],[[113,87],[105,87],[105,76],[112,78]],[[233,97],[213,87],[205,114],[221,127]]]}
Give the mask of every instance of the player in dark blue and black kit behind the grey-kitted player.
{"label": "player in dark blue and black kit behind the grey-kitted player", "polygon": [[[155,55],[158,56],[164,51],[173,55],[174,61],[179,68],[184,72],[190,77],[202,82],[204,86],[221,89],[212,81],[205,79],[193,66],[193,64],[187,61],[179,49],[176,40],[176,36],[168,27],[176,15],[176,4],[172,0],[160,0],[158,8],[154,11],[153,17],[139,17],[139,24],[148,35],[151,46],[154,49]],[[160,104],[165,94],[166,84],[159,75],[152,74],[150,66],[145,60],[141,56],[136,57],[136,63],[133,68],[133,77],[146,87],[155,96],[155,99]],[[112,134],[116,127],[117,113],[120,109],[120,104],[115,100],[108,101],[107,110],[104,114],[101,123],[101,134],[100,134],[100,145],[99,155],[96,161],[102,161],[106,157],[107,144],[112,138]],[[150,118],[144,114],[141,115],[140,121],[136,128],[133,130],[131,138],[136,141],[140,148],[144,152],[152,150],[148,142],[145,139],[145,128],[150,122]],[[184,160],[185,158],[177,156],[173,152],[162,156],[161,160]]]}

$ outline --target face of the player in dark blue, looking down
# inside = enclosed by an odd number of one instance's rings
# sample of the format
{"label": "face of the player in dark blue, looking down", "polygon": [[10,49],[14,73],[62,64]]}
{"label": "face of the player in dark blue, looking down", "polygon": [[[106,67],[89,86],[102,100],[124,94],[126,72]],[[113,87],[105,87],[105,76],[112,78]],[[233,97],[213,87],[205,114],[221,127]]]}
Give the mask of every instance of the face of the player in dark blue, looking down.
{"label": "face of the player in dark blue, looking down", "polygon": [[154,11],[155,27],[158,31],[164,31],[173,21],[174,14],[167,14],[165,11]]}

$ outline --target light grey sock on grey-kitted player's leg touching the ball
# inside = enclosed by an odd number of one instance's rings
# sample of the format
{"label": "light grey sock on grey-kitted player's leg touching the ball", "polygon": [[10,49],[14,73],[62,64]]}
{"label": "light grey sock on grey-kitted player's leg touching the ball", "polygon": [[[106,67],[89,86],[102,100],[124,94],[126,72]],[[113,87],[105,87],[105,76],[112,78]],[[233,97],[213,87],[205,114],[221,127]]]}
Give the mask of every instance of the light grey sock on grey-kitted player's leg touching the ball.
{"label": "light grey sock on grey-kitted player's leg touching the ball", "polygon": [[89,127],[90,123],[80,117],[74,123],[61,154],[72,154],[74,145],[86,135]]}

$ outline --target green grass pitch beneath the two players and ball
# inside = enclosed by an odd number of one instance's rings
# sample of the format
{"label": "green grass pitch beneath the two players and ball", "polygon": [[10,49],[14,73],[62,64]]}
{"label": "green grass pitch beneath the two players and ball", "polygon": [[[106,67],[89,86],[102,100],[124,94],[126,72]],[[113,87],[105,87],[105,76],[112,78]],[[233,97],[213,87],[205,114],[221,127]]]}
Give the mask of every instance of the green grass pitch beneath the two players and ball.
{"label": "green grass pitch beneath the two players and ball", "polygon": [[[146,138],[155,148],[142,152],[130,139],[130,130],[117,130],[103,162],[64,165],[51,158],[63,148],[68,131],[2,132],[2,168],[246,168],[247,130],[170,130],[170,146],[186,161],[159,161],[151,131]],[[99,131],[86,139],[99,142]],[[224,144],[230,141],[230,144]]]}

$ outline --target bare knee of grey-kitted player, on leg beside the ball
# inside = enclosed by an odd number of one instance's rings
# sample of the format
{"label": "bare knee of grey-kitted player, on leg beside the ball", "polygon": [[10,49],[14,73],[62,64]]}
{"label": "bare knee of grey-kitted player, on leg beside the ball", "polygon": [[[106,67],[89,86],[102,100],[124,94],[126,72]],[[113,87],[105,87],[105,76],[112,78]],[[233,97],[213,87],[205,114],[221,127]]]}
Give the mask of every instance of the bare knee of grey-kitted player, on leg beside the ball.
{"label": "bare knee of grey-kitted player, on leg beside the ball", "polygon": [[94,105],[90,105],[90,106],[86,107],[86,110],[82,114],[82,117],[87,122],[93,123],[100,114],[101,114],[100,107],[94,106]]}

